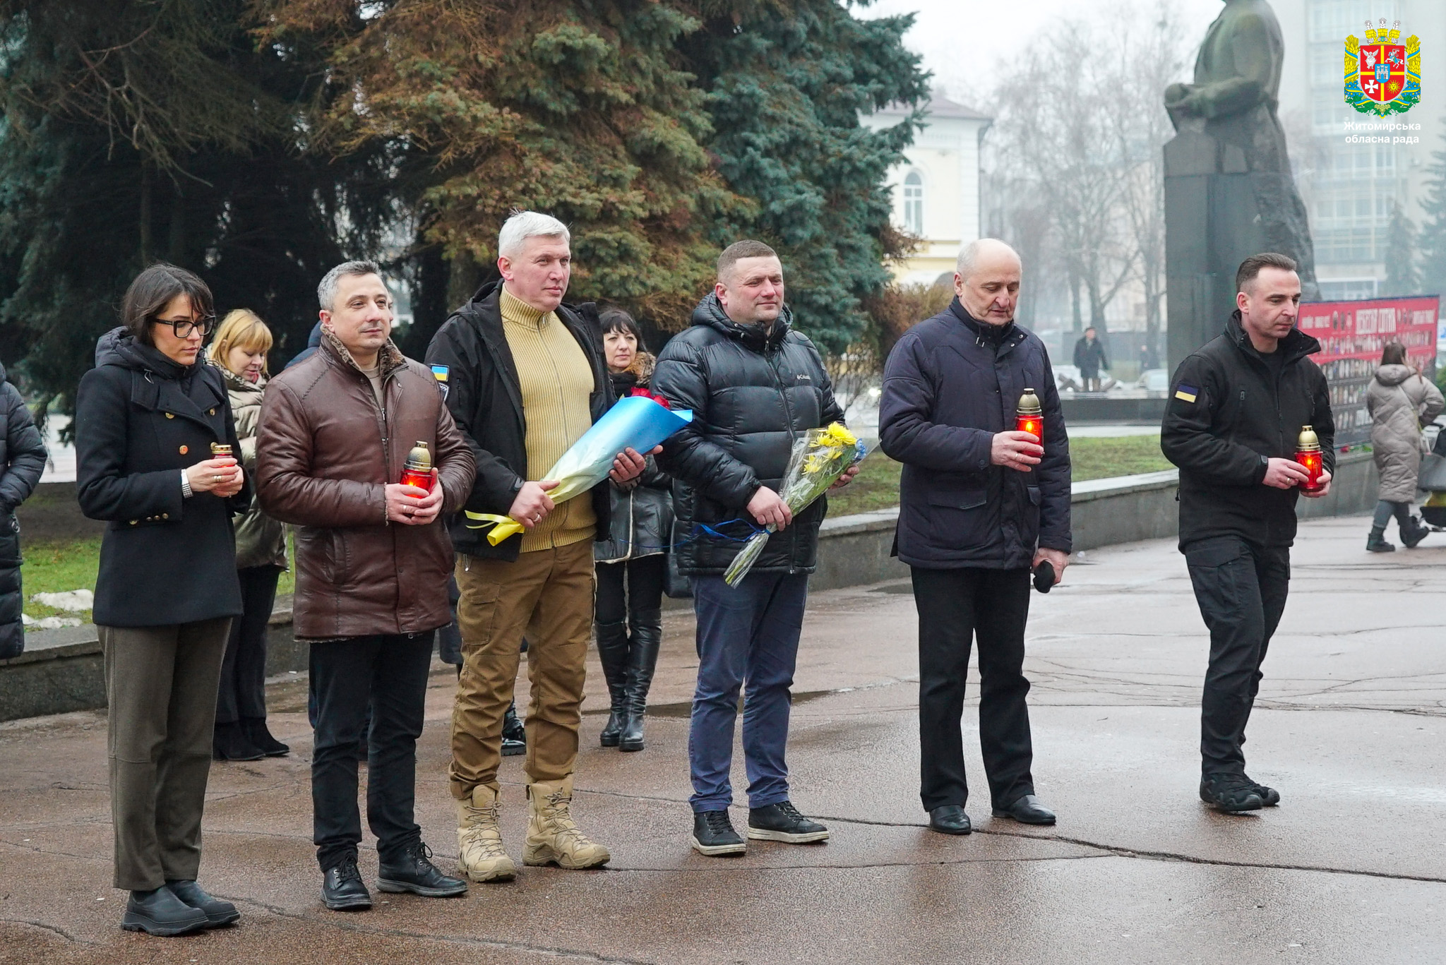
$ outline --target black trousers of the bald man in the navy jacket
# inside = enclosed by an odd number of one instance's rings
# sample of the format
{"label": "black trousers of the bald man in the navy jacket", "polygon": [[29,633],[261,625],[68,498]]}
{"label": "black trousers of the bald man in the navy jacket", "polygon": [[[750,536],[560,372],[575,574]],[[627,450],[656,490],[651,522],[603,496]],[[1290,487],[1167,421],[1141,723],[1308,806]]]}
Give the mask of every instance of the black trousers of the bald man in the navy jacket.
{"label": "black trousers of the bald man in the navy jacket", "polygon": [[979,747],[989,799],[1006,807],[1034,793],[1034,745],[1024,677],[1028,570],[921,570],[918,608],[918,729],[925,810],[969,800],[960,720],[969,648],[979,641]]}

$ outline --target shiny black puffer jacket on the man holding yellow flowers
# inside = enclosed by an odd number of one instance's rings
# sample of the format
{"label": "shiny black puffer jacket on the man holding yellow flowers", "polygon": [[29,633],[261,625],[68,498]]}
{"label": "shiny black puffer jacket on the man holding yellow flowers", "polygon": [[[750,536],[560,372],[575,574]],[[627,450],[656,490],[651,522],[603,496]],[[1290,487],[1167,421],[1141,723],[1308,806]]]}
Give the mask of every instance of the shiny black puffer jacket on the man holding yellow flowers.
{"label": "shiny black puffer jacket on the man holding yellow flowers", "polygon": [[[843,421],[818,350],[792,330],[784,314],[765,334],[723,313],[716,295],[693,311],[693,326],[674,336],[658,356],[652,391],[675,409],[693,409],[693,422],[664,443],[659,464],[672,475],[678,531],[697,524],[748,519],[748,501],[759,486],[778,489],[794,440]],[[792,525],[769,538],[755,573],[813,573],[818,524],[829,511],[817,499]],[[733,534],[746,535],[746,527]],[[688,576],[717,576],[740,543],[706,534],[678,548],[678,569]]]}

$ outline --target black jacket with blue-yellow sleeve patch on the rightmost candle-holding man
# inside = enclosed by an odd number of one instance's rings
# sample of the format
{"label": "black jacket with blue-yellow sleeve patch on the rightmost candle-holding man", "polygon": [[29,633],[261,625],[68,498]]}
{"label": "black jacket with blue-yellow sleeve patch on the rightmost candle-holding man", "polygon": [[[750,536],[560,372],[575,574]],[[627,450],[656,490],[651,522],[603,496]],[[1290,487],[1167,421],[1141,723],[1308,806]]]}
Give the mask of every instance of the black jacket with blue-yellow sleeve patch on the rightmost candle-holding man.
{"label": "black jacket with blue-yellow sleeve patch on the rightmost candle-holding man", "polygon": [[1336,425],[1320,367],[1306,356],[1320,343],[1293,328],[1280,340],[1272,372],[1236,311],[1225,333],[1194,350],[1170,381],[1160,449],[1180,467],[1180,548],[1236,535],[1259,545],[1296,538],[1296,489],[1261,480],[1272,456],[1294,459],[1301,425],[1320,437],[1336,470]]}

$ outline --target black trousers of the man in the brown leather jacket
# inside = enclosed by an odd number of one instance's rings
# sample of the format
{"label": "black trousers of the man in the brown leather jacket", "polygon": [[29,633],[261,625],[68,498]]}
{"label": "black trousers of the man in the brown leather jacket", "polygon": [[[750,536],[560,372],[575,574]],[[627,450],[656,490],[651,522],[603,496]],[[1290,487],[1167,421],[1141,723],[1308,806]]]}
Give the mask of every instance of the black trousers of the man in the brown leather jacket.
{"label": "black trousers of the man in the brown leather jacket", "polygon": [[366,819],[383,862],[421,839],[416,738],[422,735],[434,631],[353,637],[311,644],[311,690],[317,696],[311,757],[312,841],[321,870],[357,852],[357,741],[372,707]]}

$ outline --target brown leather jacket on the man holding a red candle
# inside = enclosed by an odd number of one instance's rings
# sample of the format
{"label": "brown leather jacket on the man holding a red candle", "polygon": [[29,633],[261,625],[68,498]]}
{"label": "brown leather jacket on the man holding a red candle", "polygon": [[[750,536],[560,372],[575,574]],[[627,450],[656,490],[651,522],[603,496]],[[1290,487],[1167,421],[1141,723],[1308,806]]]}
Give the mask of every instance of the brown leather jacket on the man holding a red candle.
{"label": "brown leather jacket on the man holding a red candle", "polygon": [[[451,622],[453,547],[442,524],[471,492],[476,464],[431,370],[382,349],[385,411],[334,337],[266,386],[256,435],[262,509],[296,530],[298,638],[418,634]],[[442,486],[425,527],[390,524],[383,486],[422,440]]]}

